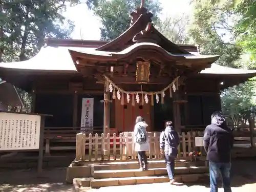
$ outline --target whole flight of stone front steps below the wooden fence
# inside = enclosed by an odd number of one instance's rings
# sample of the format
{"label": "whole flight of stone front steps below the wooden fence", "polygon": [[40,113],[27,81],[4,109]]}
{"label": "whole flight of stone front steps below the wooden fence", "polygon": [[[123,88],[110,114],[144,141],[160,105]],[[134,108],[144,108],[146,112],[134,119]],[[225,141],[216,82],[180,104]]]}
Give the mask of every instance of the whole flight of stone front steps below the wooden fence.
{"label": "whole flight of stone front steps below the wooden fence", "polygon": [[[94,163],[86,166],[68,167],[68,170],[72,168],[79,170],[78,177],[74,177],[75,175],[73,174],[73,184],[76,187],[91,186],[92,188],[97,188],[103,186],[168,182],[165,162],[163,160],[148,162],[149,169],[144,172],[139,171],[138,161],[134,160]],[[88,166],[91,167],[90,176],[88,175],[89,169],[85,169]],[[175,166],[177,182],[196,182],[208,173],[208,167],[205,166],[204,161],[190,162],[177,160]],[[71,174],[67,173],[67,181],[68,178],[69,180],[72,179]]]}

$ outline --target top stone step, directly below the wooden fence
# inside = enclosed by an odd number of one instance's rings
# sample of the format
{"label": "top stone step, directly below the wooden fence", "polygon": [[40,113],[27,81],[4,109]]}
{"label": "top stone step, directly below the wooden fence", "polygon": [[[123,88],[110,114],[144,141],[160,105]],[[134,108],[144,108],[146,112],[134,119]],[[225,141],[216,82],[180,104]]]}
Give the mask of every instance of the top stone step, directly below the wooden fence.
{"label": "top stone step, directly below the wooden fence", "polygon": [[[91,164],[92,166],[93,164]],[[110,162],[110,163],[102,163],[95,164],[94,170],[117,170],[117,169],[138,169],[139,163],[138,161],[124,161],[124,162]],[[205,161],[185,161],[185,160],[177,160],[175,161],[175,167],[190,167],[190,166],[205,166]],[[165,168],[164,160],[153,160],[148,161],[148,167],[150,168]]]}

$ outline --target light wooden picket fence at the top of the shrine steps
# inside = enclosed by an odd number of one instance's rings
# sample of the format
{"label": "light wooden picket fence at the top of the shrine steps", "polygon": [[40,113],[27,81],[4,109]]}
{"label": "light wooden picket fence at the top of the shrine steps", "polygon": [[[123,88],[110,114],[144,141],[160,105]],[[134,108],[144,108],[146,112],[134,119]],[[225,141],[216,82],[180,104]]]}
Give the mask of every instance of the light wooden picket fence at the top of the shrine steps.
{"label": "light wooden picket fence at the top of the shrine steps", "polygon": [[[204,156],[203,147],[195,146],[195,137],[201,137],[203,132],[182,132],[178,148],[179,159],[191,159],[190,152],[201,152]],[[150,159],[162,159],[160,154],[160,132],[147,132],[150,144],[147,156]],[[133,132],[124,132],[116,135],[82,134],[76,135],[76,162],[79,161],[104,161],[104,160],[129,160],[137,159],[134,150]]]}

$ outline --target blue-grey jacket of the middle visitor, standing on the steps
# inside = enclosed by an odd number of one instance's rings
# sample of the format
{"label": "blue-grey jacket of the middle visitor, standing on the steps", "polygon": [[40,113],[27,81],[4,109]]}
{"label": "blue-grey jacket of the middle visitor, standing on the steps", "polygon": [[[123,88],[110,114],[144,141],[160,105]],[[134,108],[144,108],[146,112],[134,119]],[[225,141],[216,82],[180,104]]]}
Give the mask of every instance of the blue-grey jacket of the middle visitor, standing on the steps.
{"label": "blue-grey jacket of the middle visitor, standing on the steps", "polygon": [[168,156],[177,157],[180,137],[173,126],[167,126],[160,135],[160,149]]}

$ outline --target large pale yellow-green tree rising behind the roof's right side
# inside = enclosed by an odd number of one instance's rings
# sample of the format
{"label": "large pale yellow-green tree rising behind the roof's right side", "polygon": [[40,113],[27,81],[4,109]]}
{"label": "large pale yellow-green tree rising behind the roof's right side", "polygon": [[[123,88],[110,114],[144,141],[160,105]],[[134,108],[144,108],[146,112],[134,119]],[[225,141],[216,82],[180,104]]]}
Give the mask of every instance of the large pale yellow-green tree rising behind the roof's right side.
{"label": "large pale yellow-green tree rising behind the roof's right side", "polygon": [[195,1],[190,35],[200,45],[202,54],[222,55],[219,65],[236,67],[242,48],[236,44],[233,25],[236,15],[233,1]]}

